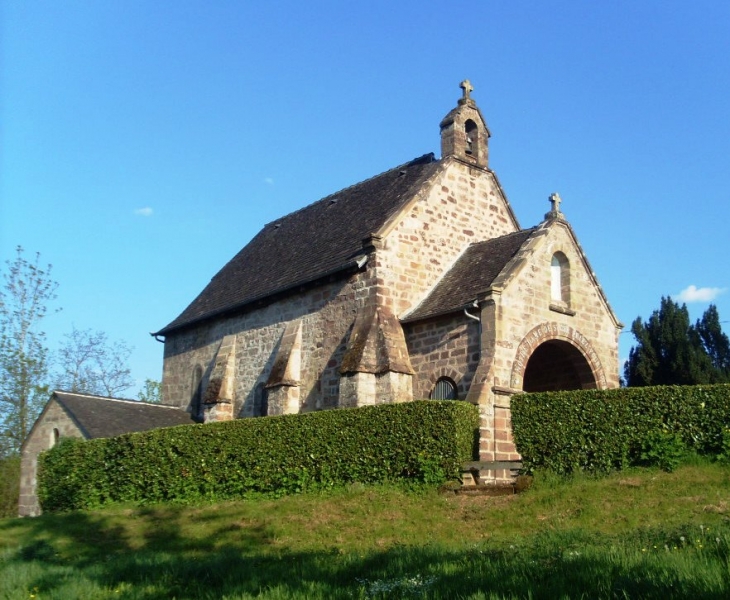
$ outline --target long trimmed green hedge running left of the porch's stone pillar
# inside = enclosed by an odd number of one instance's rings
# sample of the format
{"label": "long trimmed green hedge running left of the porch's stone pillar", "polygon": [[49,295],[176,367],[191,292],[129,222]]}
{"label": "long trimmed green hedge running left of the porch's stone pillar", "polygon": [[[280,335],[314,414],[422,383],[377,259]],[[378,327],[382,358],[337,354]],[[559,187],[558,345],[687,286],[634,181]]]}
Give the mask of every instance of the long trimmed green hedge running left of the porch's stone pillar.
{"label": "long trimmed green hedge running left of the porch's stone pillar", "polygon": [[282,495],[459,475],[474,453],[477,408],[417,401],[65,440],[39,459],[44,511],[112,502]]}

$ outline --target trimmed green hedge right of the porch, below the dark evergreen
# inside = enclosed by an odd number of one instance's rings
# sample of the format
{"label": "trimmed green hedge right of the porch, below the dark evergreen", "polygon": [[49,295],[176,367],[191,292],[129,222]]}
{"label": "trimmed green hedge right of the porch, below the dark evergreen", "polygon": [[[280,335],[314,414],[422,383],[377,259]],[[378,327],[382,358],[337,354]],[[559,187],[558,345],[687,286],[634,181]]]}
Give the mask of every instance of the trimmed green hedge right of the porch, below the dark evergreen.
{"label": "trimmed green hedge right of the porch, below the dark evergreen", "polygon": [[645,441],[660,434],[719,455],[730,427],[727,384],[520,394],[511,406],[515,444],[528,472],[639,464]]}

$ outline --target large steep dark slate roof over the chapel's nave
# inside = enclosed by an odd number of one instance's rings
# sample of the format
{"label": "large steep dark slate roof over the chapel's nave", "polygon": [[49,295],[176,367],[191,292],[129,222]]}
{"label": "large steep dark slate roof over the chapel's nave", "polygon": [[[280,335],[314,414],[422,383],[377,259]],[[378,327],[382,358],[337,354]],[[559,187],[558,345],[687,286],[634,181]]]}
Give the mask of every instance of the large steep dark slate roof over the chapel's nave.
{"label": "large steep dark slate roof over the chapel's nave", "polygon": [[366,254],[363,239],[412,198],[440,164],[425,154],[269,223],[154,335],[357,268],[356,259]]}

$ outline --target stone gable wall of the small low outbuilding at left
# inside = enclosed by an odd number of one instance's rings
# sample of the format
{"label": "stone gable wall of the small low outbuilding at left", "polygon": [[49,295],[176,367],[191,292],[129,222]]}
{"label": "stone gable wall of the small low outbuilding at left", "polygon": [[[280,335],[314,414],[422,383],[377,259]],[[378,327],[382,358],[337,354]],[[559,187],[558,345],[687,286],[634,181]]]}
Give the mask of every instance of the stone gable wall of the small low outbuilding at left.
{"label": "stone gable wall of the small low outbuilding at left", "polygon": [[55,445],[54,429],[58,430],[58,439],[83,437],[79,428],[58,402],[54,400],[49,402],[23,444],[20,458],[20,501],[18,502],[18,514],[21,517],[34,517],[41,514],[36,495],[38,455]]}

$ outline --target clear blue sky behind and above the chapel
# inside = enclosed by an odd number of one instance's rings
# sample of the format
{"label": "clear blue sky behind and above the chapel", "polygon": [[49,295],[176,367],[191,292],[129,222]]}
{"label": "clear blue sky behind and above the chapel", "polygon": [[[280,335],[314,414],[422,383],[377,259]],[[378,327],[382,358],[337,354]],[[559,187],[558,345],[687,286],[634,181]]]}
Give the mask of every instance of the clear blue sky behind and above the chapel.
{"label": "clear blue sky behind and above the chapel", "polygon": [[73,326],[103,330],[134,346],[140,384],[159,379],[150,331],[265,223],[438,155],[465,78],[521,225],[559,192],[627,329],[663,295],[730,320],[730,3],[0,11],[0,258],[21,245],[53,264],[52,348]]}

